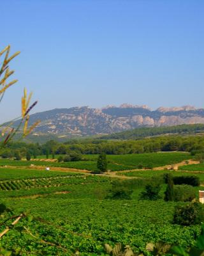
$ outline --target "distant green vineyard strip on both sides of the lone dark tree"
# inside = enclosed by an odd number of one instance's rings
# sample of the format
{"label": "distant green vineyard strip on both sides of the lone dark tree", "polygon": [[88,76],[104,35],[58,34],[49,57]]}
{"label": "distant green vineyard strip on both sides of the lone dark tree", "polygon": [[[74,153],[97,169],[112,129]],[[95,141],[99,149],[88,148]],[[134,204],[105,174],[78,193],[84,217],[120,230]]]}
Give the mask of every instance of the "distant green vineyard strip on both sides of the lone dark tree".
{"label": "distant green vineyard strip on both sides of the lone dark tree", "polygon": [[[76,168],[81,170],[97,170],[98,155],[84,155],[85,161],[57,163],[52,161],[16,161],[11,159],[0,159],[0,166],[55,166],[64,168]],[[152,168],[164,166],[166,164],[179,163],[191,159],[188,153],[182,152],[163,152],[148,154],[129,154],[129,155],[108,155],[108,170],[133,170],[136,168]]]}

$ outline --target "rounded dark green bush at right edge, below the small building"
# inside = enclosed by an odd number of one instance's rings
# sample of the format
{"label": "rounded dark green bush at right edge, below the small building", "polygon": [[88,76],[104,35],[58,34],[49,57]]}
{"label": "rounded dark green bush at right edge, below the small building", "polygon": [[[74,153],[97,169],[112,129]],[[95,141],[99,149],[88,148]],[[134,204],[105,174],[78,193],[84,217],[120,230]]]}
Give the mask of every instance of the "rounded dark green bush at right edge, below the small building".
{"label": "rounded dark green bush at right edge, below the small building", "polygon": [[204,221],[204,208],[198,202],[187,205],[177,205],[173,214],[173,223],[189,226]]}

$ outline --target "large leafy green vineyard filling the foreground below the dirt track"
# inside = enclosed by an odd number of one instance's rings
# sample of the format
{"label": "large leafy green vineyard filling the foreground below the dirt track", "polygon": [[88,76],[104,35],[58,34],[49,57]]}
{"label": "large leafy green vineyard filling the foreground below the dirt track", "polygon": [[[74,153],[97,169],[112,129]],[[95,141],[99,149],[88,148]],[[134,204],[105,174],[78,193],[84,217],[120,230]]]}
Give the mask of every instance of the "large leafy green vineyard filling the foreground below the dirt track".
{"label": "large leafy green vineyard filling the foreground below the dirt track", "polygon": [[[142,183],[135,186],[131,200],[112,200],[106,199],[112,186],[110,177],[9,168],[0,172],[3,202],[15,209],[13,214],[24,211],[33,216],[33,221],[22,219],[17,227],[26,227],[34,237],[40,237],[35,239],[18,228],[10,230],[0,244],[7,250],[20,248],[19,255],[73,255],[78,250],[84,256],[105,256],[105,243],[129,244],[135,252],[145,252],[145,244],[150,241],[189,246],[200,232],[199,225],[171,223],[173,209],[181,203],[138,200]],[[122,175],[133,177],[136,173],[146,179],[166,172],[182,173],[145,170]],[[137,180],[138,185],[143,179]],[[5,227],[1,225],[0,232]]]}

